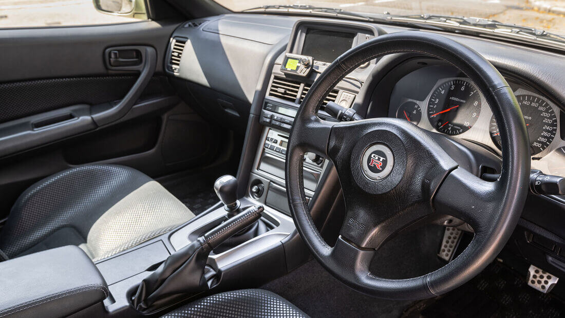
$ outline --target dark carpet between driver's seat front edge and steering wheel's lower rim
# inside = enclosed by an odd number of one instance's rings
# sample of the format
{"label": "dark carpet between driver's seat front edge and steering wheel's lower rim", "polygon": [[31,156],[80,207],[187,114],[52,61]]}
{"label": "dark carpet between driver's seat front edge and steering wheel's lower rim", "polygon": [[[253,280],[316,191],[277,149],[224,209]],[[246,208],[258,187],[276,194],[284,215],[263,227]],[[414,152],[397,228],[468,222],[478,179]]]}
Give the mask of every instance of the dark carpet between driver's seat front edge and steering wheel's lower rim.
{"label": "dark carpet between driver's seat front edge and steering wheel's lower rim", "polygon": [[411,303],[357,293],[315,260],[262,288],[281,295],[311,317],[398,317]]}

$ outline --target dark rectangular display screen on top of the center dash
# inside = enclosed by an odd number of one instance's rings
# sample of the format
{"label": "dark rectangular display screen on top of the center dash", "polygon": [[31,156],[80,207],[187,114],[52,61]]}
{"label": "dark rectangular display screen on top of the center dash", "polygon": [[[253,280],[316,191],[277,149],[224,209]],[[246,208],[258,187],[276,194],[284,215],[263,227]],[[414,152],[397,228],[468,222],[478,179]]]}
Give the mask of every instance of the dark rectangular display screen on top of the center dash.
{"label": "dark rectangular display screen on top of the center dash", "polygon": [[351,49],[354,37],[355,33],[307,29],[301,54],[312,56],[315,61],[331,63]]}

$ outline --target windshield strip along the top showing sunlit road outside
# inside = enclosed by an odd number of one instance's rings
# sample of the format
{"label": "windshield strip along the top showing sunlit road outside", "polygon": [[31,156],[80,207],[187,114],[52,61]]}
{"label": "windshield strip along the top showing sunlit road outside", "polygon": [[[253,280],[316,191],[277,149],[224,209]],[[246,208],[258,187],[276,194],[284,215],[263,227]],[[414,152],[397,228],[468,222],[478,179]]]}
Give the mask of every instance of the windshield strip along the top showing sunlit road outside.
{"label": "windshield strip along the top showing sunlit road outside", "polygon": [[565,0],[216,0],[232,11],[264,5],[311,5],[358,13],[448,15],[497,20],[565,35]]}

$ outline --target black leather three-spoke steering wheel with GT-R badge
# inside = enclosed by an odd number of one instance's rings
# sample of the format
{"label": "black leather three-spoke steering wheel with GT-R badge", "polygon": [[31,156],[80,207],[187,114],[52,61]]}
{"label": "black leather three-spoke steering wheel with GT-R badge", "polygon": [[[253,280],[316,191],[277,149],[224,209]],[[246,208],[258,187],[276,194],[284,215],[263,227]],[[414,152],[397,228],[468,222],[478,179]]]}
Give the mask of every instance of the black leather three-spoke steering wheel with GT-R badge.
{"label": "black leather three-spoke steering wheel with GT-R badge", "polygon": [[[316,116],[324,97],[350,71],[395,53],[445,60],[465,73],[492,108],[502,138],[496,182],[458,167],[433,133],[390,118],[332,123]],[[298,233],[332,275],[364,294],[424,299],[462,285],[482,271],[508,241],[528,192],[528,134],[506,80],[481,55],[446,37],[417,31],[386,34],[338,57],[314,82],[295,117],[286,158],[286,189]],[[308,211],[302,179],[306,152],[331,160],[343,191],[346,217],[336,244],[321,238]],[[433,215],[466,221],[471,243],[450,263],[415,278],[373,275],[377,249],[408,226]]]}

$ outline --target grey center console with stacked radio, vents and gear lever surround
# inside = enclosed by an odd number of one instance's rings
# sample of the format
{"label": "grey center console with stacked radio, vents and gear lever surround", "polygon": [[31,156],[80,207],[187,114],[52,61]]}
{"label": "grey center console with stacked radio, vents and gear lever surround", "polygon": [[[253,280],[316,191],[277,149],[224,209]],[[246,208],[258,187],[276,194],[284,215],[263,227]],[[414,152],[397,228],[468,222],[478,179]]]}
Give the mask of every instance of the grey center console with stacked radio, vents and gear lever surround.
{"label": "grey center console with stacked radio, vents and gear lever surround", "polygon": [[[197,37],[196,32],[181,28],[173,37]],[[215,189],[221,202],[186,224],[97,262],[111,295],[103,302],[107,313],[131,316],[144,310],[154,312],[162,308],[164,311],[172,300],[148,301],[150,295],[160,294],[155,286],[151,287],[158,281],[167,281],[166,286],[162,286],[179,293],[184,300],[195,299],[207,293],[258,287],[308,259],[310,252],[296,232],[285,186],[289,133],[300,104],[320,73],[338,55],[377,34],[376,28],[351,21],[297,20],[286,50],[283,52],[282,41],[273,45],[264,62],[262,79],[250,108],[237,179],[220,178],[217,182],[224,186],[229,184],[229,190]],[[186,59],[190,55],[183,56]],[[333,120],[324,110],[328,102],[355,109],[371,63],[375,61],[360,66],[338,82],[320,105],[318,116]],[[180,69],[179,73],[182,75],[185,71]],[[225,110],[232,110],[228,104],[220,104]],[[331,162],[318,154],[307,153],[303,160],[304,191],[312,221],[321,228],[333,207],[341,208],[337,202],[340,198],[337,173]],[[260,211],[253,225],[245,225],[237,231],[231,227],[231,224],[243,226],[236,218],[251,210]],[[225,234],[223,226],[231,229],[233,236],[216,246],[212,243],[218,241],[221,233]],[[206,253],[199,254],[198,249],[204,247]],[[193,276],[187,274],[192,271],[184,273],[182,269],[193,259],[192,253],[202,262],[193,264],[198,270],[198,275],[193,277],[198,288],[189,293],[187,285],[190,284],[177,278]],[[177,264],[180,267],[176,267]],[[172,268],[175,271],[169,271]],[[172,277],[170,272],[177,272],[178,276]],[[144,286],[147,287],[144,289]],[[213,291],[209,291],[212,288]],[[155,293],[148,296],[144,294],[147,290]]]}

